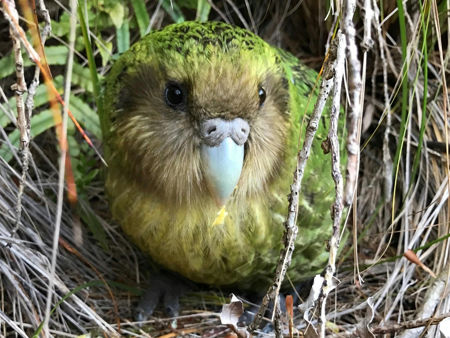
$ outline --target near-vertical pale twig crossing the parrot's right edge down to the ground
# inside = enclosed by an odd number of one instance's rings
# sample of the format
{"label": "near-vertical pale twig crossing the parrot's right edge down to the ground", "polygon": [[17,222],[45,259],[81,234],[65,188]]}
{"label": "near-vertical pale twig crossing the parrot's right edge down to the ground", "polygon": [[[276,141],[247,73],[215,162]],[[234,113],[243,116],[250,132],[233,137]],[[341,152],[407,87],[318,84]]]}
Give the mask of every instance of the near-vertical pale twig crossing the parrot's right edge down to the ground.
{"label": "near-vertical pale twig crossing the parrot's right edge down to the ground", "polygon": [[[339,120],[339,110],[341,107],[341,84],[342,76],[344,75],[344,60],[345,60],[345,38],[341,31],[338,31],[338,37],[334,40],[337,44],[331,44],[331,48],[337,49],[335,52],[336,67],[334,68],[333,76],[333,100],[331,106],[331,116],[330,116],[330,127],[328,131],[327,139],[324,142],[328,142],[329,149],[331,150],[331,176],[334,181],[334,186],[336,190],[335,201],[330,207],[331,218],[333,219],[333,231],[331,239],[329,241],[329,258],[328,265],[325,267],[325,278],[322,284],[322,289],[320,290],[319,304],[320,304],[320,317],[319,317],[319,328],[318,332],[322,337],[325,335],[325,303],[330,291],[335,287],[336,282],[333,281],[334,272],[336,271],[336,257],[338,255],[339,248],[339,232],[341,225],[342,216],[342,195],[343,195],[343,185],[342,185],[342,175],[340,166],[340,154],[339,154],[339,140],[338,140],[338,120]],[[328,148],[327,148],[328,150]],[[324,151],[325,152],[325,151]]]}

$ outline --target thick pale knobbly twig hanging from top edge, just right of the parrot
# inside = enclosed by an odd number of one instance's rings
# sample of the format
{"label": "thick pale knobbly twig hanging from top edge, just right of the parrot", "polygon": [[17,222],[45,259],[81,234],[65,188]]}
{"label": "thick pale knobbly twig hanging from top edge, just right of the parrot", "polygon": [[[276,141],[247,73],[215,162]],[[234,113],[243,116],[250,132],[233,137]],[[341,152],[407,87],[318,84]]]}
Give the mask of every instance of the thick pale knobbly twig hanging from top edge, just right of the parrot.
{"label": "thick pale knobbly twig hanging from top edge, just right of the parrot", "polygon": [[344,1],[342,5],[342,32],[347,40],[347,60],[349,68],[349,111],[347,114],[347,170],[344,189],[344,204],[350,205],[356,189],[358,168],[358,155],[360,145],[358,142],[358,125],[361,117],[361,63],[358,59],[356,47],[356,30],[352,22],[356,0]]}

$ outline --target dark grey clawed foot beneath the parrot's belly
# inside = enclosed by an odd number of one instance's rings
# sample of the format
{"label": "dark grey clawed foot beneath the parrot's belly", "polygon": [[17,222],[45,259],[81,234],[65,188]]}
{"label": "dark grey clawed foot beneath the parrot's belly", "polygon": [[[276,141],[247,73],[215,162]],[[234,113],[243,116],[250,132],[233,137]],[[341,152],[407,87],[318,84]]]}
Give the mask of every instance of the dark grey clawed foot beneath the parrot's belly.
{"label": "dark grey clawed foot beneath the parrot's belly", "polygon": [[[136,309],[136,319],[139,322],[148,320],[158,304],[164,306],[166,316],[177,317],[180,311],[180,295],[187,292],[188,283],[180,276],[169,271],[153,274],[148,288]],[[176,327],[176,320],[171,323]]]}

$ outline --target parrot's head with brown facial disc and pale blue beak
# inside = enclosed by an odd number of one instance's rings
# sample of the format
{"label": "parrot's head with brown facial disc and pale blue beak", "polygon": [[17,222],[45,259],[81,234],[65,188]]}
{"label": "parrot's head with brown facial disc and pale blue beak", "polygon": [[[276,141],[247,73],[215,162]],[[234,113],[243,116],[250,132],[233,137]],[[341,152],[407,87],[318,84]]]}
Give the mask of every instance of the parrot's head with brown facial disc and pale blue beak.
{"label": "parrot's head with brown facial disc and pale blue beak", "polygon": [[275,50],[250,32],[222,22],[154,31],[108,79],[110,167],[165,201],[264,194],[288,147],[288,98]]}

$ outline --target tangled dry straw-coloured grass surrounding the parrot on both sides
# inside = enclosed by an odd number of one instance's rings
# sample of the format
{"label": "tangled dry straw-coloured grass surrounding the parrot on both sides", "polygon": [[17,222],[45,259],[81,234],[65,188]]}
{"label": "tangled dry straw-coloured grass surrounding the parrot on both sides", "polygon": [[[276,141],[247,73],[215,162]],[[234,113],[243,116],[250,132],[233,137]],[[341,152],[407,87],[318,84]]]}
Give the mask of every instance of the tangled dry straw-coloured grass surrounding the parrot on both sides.
{"label": "tangled dry straw-coloured grass surrounding the parrot on both sides", "polygon": [[[259,5],[255,3],[249,4],[252,13],[250,16],[245,1],[235,1],[233,4],[236,6],[232,6],[231,1],[215,1],[220,13],[213,9],[210,18],[234,22],[251,30],[256,27],[256,31],[270,43],[285,47],[311,67],[320,69],[325,46],[329,41],[329,31],[334,28],[334,17],[331,13],[329,19],[324,21],[329,1],[306,0],[294,11],[296,4],[289,1],[266,1]],[[52,6],[53,17],[56,12],[63,12],[59,5]],[[171,18],[158,6],[157,1],[148,1],[147,7],[155,28],[171,22]],[[236,9],[240,11],[239,15],[236,14]],[[396,9],[396,2],[385,0],[383,9],[386,18]],[[359,13],[357,9],[357,39],[362,39],[364,31]],[[193,14],[186,13],[187,18],[189,15],[195,15],[195,11]],[[430,289],[436,288],[436,285],[425,271],[401,257],[406,249],[426,246],[417,251],[419,259],[442,280],[447,280],[449,243],[442,239],[432,245],[428,244],[449,233],[445,120],[448,105],[445,108],[442,72],[445,76],[449,72],[446,44],[450,27],[447,16],[441,15],[439,36],[434,25],[435,18],[431,15],[428,28],[432,31],[430,39],[441,39],[444,44],[444,69],[437,42],[430,44],[432,49],[428,50],[428,90],[424,93],[420,38],[423,35],[419,32],[422,18],[419,3],[405,3],[408,42],[406,59],[409,65],[404,81],[410,84],[406,110],[410,117],[404,124],[404,136],[400,135],[402,57],[397,14],[394,13],[384,22],[381,46],[377,31],[372,29],[375,45],[367,53],[367,61],[363,64],[365,99],[357,208],[347,222],[347,227],[353,227],[353,231],[356,231],[357,241],[352,243],[352,240],[349,240],[338,264],[337,276],[341,284],[330,294],[326,308],[330,334],[331,328],[334,332],[353,330],[365,314],[366,300],[369,297],[374,297],[375,323],[386,325],[403,322],[415,319],[418,313],[421,313],[421,306],[431,299]],[[426,16],[424,19],[426,22]],[[3,27],[4,24],[1,23],[0,28]],[[138,38],[138,35],[132,34],[131,41]],[[113,34],[104,39],[113,40]],[[359,44],[359,41],[357,42]],[[3,51],[9,48],[8,44],[5,46]],[[383,60],[380,49],[383,49],[386,61]],[[386,66],[386,86],[383,84],[383,65]],[[99,72],[106,73],[108,67],[109,64],[99,68]],[[60,70],[55,67],[55,71]],[[1,94],[8,98],[12,95],[9,90],[10,82],[11,80],[7,79],[1,83]],[[386,116],[386,97],[391,102],[391,119]],[[423,98],[428,100],[426,111],[423,111]],[[8,114],[4,98],[0,103],[0,115]],[[426,126],[422,154],[418,175],[411,177],[423,114],[426,114]],[[388,129],[385,138],[387,120],[392,120],[392,127]],[[0,130],[2,143],[6,140],[6,133],[13,128],[14,125],[9,125],[9,129]],[[387,141],[384,150],[383,139]],[[390,180],[386,175],[386,172],[390,172],[386,151],[394,160],[397,145],[401,140],[403,149],[398,173],[391,172],[394,179]],[[31,142],[33,156],[30,159],[23,194],[22,222],[14,234],[11,231],[15,224],[15,204],[21,176],[18,165],[20,153],[13,147],[11,150],[16,154],[15,162],[13,160],[7,163],[0,158],[0,329],[4,336],[30,336],[45,317],[54,224],[58,214],[56,143],[51,132],[44,133]],[[100,147],[100,142],[94,143]],[[95,166],[100,166],[99,161]],[[396,168],[395,162],[393,168]],[[139,299],[139,288],[145,287],[148,280],[148,263],[139,250],[124,237],[120,227],[111,220],[101,178],[97,178],[84,189],[85,200],[89,203],[80,200],[81,207],[95,215],[97,222],[103,227],[108,250],[102,247],[98,238],[87,227],[78,226],[80,221],[77,213],[71,209],[68,201],[64,200],[55,279],[54,285],[51,286],[52,307],[69,291],[85,283],[92,284],[77,290],[56,307],[49,318],[50,330],[41,334],[70,337],[87,332],[104,336],[138,335],[144,334],[144,331],[153,337],[169,334],[171,329],[168,319],[154,320],[148,323],[151,326],[142,328],[129,322],[132,318],[131,311]],[[77,245],[78,237],[74,236],[77,231],[81,231],[81,245]],[[391,259],[396,256],[399,257]],[[113,300],[108,287],[103,283],[104,280],[122,285],[109,284],[113,291]],[[129,289],[124,289],[123,285],[129,286]],[[306,294],[307,292],[308,290]],[[437,313],[450,310],[449,290],[445,288],[445,292],[439,292],[439,296],[441,294],[442,297],[436,298],[437,301],[442,301]],[[228,294],[224,297],[220,290],[213,289],[184,297],[182,316],[178,318],[179,327],[183,327],[189,336],[215,337],[225,334],[228,331],[218,328],[217,325],[220,324],[218,312],[227,296]],[[437,301],[435,304],[428,304],[431,306],[431,315]],[[118,312],[115,311],[115,306]],[[161,316],[161,312],[157,312],[157,315]],[[298,312],[294,312],[294,315],[294,325],[297,325],[299,330],[304,329],[302,317]],[[118,320],[121,323],[120,329]],[[436,326],[430,327],[428,334],[429,337],[439,337]]]}

